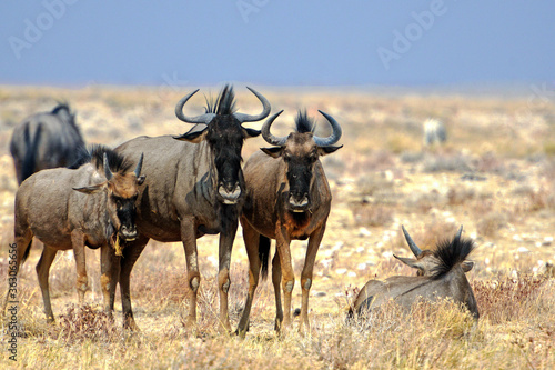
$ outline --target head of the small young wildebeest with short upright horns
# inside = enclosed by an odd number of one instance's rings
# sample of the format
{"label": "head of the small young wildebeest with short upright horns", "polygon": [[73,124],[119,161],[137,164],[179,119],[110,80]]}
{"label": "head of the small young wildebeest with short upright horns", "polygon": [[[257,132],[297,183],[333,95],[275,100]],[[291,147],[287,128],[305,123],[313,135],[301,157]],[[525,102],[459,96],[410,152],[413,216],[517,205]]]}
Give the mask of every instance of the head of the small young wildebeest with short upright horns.
{"label": "head of the small young wildebeest with short upright horns", "polygon": [[113,231],[117,231],[124,240],[134,240],[137,238],[135,201],[139,186],[144,182],[145,178],[141,176],[143,154],[134,171],[129,171],[130,164],[122,156],[103,147],[93,149],[91,156],[97,169],[104,171],[105,181],[94,186],[73,188],[73,190],[87,194],[107,191],[105,209],[110,218],[109,228],[113,228],[113,230],[107,230],[107,237],[111,237]]}

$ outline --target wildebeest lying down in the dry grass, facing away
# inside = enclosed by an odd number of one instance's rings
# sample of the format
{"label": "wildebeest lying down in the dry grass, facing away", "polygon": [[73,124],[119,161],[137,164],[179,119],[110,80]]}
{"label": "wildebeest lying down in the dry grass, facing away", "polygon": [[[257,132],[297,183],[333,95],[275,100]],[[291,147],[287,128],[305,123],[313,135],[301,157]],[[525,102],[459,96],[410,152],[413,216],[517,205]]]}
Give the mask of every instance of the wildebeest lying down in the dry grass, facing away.
{"label": "wildebeest lying down in the dry grass, facing away", "polygon": [[471,239],[461,239],[463,227],[453,240],[437,244],[435,251],[421,250],[403,227],[406,242],[416,259],[400,258],[403,263],[417,269],[416,277],[391,277],[383,281],[370,280],[356,297],[350,317],[354,312],[364,314],[390,300],[395,300],[405,309],[418,300],[435,301],[450,298],[455,303],[464,304],[474,318],[478,318],[478,308],[471,284],[466,279],[474,263],[466,258],[474,249]]}

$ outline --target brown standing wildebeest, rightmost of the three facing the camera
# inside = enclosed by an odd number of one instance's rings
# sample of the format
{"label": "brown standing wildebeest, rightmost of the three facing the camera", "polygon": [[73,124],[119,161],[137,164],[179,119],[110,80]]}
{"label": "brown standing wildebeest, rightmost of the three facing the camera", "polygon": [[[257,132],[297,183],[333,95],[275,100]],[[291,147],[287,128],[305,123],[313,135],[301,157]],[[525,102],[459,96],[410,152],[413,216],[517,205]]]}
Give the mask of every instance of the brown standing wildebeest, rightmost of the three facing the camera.
{"label": "brown standing wildebeest, rightmost of the three facing the camera", "polygon": [[[333,153],[341,138],[340,124],[320,111],[330,122],[332,133],[327,138],[314,136],[314,122],[306,113],[296,117],[296,131],[279,138],[270,133],[270,127],[281,112],[271,117],[262,127],[262,137],[273,148],[263,148],[246,161],[243,173],[246,182],[246,199],[241,216],[243,238],[249,256],[249,294],[238,333],[244,336],[249,328],[249,314],[259,283],[268,273],[270,239],[276,241],[273,258],[272,282],[275,293],[275,329],[291,323],[291,293],[295,276],[291,263],[291,240],[309,239],[306,259],[301,274],[302,309],[301,323],[309,329],[309,292],[316,252],[324,236],[330,214],[332,194],[320,157]],[[284,309],[281,303],[280,282],[283,287]]]}

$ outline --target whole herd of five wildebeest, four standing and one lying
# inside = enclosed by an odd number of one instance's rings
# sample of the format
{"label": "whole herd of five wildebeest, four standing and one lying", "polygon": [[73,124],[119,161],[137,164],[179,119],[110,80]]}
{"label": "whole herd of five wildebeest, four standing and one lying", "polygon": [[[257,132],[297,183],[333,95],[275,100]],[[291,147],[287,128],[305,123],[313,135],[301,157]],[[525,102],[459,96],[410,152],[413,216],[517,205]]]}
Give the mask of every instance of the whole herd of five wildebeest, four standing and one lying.
{"label": "whole herd of five wildebeest, four standing and one lying", "polygon": [[[84,141],[68,104],[36,114],[16,128],[10,150],[20,188],[16,194],[16,273],[29,256],[33,238],[43,242],[37,273],[48,321],[53,321],[49,294],[49,270],[58,250],[72,249],[75,258],[80,302],[88,286],[84,247],[101,249],[101,287],[104,309],[111,314],[120,284],[123,326],[137,330],[130,294],[130,276],[150,239],[181,241],[185,251],[188,312],[185,326],[196,323],[196,294],[201,282],[196,239],[220,234],[218,290],[220,323],[231,332],[228,292],[230,261],[239,223],[249,257],[249,287],[239,336],[249,330],[251,307],[259,279],[270,264],[271,239],[275,240],[272,283],[275,294],[275,330],[291,327],[292,291],[295,284],[291,259],[292,240],[309,240],[301,273],[302,306],[299,331],[309,326],[309,297],[316,253],[331,212],[332,193],[320,157],[331,154],[342,136],[340,123],[321,114],[331,126],[322,138],[315,121],[300,111],[295,130],[285,137],[271,133],[273,114],[261,131],[243,127],[264,120],[271,104],[248,88],[261,102],[258,114],[235,110],[231,86],[225,86],[205,112],[186,116],[186,94],[175,107],[176,117],[194,124],[181,136],[139,137],[109,149]],[[242,168],[244,140],[262,138],[270,148],[252,154]],[[407,309],[418,300],[451,298],[476,319],[478,310],[465,272],[474,248],[462,238],[462,227],[452,241],[435,251],[422,251],[403,228],[416,259],[398,258],[417,269],[415,277],[371,280],[361,290],[349,316],[365,318],[389,300]],[[283,302],[282,302],[283,292]],[[4,300],[8,301],[8,296]]]}

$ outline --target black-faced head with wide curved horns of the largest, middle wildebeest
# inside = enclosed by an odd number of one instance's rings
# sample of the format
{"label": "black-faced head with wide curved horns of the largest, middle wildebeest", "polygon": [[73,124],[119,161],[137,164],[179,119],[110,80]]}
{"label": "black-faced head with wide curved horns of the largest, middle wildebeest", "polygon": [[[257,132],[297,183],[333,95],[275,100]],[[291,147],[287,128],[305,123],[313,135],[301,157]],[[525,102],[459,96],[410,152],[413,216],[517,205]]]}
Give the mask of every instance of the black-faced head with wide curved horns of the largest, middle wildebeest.
{"label": "black-faced head with wide curved horns of the largest, middle wildebeest", "polygon": [[244,122],[260,121],[270,114],[270,102],[255,90],[248,88],[263,106],[260,114],[244,114],[234,111],[235,97],[233,88],[225,86],[214,103],[209,102],[205,113],[188,117],[183,106],[199,90],[185,96],[175,106],[175,116],[183,122],[195,123],[188,133],[175,137],[178,140],[201,142],[205,140],[213,153],[216,173],[216,197],[225,204],[236,203],[244,190],[241,170],[241,149],[245,139],[260,134],[259,130],[248,129]]}

